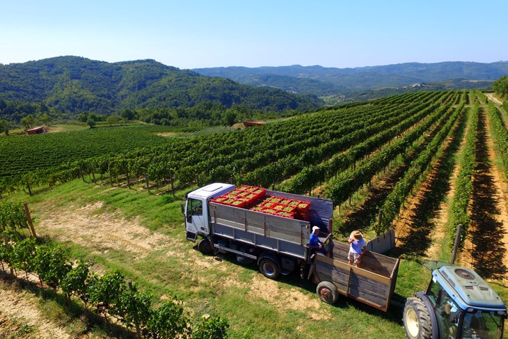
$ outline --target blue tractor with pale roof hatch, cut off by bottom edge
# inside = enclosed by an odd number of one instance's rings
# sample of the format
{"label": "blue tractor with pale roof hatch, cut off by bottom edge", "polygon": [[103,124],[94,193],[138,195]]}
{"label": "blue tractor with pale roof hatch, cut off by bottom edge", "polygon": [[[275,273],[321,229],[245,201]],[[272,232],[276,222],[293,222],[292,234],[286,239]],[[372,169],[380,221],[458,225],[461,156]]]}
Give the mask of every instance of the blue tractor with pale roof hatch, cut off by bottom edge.
{"label": "blue tractor with pale roof hatch, cut off by bottom edge", "polygon": [[473,269],[447,262],[424,262],[432,272],[427,291],[404,306],[410,339],[502,339],[507,307]]}

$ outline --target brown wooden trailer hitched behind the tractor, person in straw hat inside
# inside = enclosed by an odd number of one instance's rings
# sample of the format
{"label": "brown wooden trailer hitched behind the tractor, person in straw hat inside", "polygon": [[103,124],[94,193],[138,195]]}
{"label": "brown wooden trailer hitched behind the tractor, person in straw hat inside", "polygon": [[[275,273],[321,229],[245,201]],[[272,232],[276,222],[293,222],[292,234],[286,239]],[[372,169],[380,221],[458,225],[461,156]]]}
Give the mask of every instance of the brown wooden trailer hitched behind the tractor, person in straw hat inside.
{"label": "brown wooden trailer hitched behind the tractor, person in straw hat inside", "polygon": [[331,258],[316,254],[309,271],[320,299],[334,303],[342,294],[386,312],[397,283],[400,259],[366,251],[360,267],[355,267],[348,264],[348,244],[335,242],[331,246]]}

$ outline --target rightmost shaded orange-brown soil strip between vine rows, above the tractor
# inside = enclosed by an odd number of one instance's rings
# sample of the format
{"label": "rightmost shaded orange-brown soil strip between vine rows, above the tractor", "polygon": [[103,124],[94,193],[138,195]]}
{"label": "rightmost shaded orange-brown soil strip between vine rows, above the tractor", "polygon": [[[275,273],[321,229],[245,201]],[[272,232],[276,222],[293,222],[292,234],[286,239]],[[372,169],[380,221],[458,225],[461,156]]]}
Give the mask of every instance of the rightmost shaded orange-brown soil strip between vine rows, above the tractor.
{"label": "rightmost shaded orange-brown soil strip between vine rows, above the tractor", "polygon": [[508,209],[502,185],[502,175],[495,163],[489,116],[479,112],[477,166],[473,175],[473,203],[470,206],[470,226],[461,264],[473,267],[485,278],[506,278]]}

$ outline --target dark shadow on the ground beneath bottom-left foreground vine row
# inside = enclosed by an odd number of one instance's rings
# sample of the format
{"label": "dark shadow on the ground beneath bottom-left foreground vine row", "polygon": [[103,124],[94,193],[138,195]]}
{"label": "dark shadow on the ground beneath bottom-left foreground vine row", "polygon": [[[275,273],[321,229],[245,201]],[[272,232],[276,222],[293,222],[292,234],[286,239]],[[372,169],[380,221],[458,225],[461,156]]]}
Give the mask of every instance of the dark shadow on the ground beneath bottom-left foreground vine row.
{"label": "dark shadow on the ground beneath bottom-left foreground vine row", "polygon": [[55,309],[45,306],[45,314],[47,319],[49,318],[61,327],[70,326],[71,322],[81,322],[80,325],[74,326],[72,333],[74,336],[86,336],[92,331],[98,331],[111,338],[136,338],[136,334],[124,326],[107,322],[104,317],[84,308],[80,301],[74,299],[68,301],[63,294],[51,288],[40,287],[35,281],[27,281],[21,277],[11,278],[6,271],[2,270],[0,270],[0,279],[14,292],[24,290],[42,299],[43,303],[54,302],[58,307]]}

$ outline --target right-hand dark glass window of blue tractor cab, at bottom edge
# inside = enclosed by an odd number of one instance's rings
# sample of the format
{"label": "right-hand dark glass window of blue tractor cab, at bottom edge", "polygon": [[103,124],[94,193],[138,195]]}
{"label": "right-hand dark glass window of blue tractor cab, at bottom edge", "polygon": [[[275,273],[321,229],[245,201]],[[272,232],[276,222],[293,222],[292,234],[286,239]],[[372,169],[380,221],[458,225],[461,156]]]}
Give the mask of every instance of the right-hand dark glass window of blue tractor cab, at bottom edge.
{"label": "right-hand dark glass window of blue tractor cab, at bottom edge", "polygon": [[463,339],[500,339],[504,317],[494,312],[466,313],[463,320]]}

